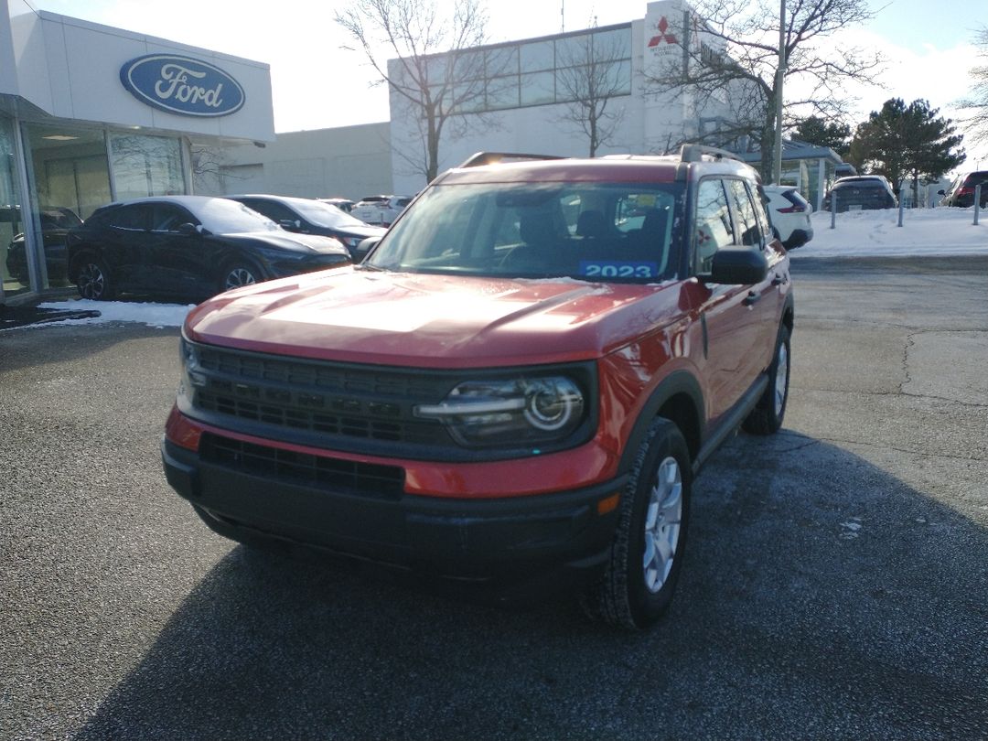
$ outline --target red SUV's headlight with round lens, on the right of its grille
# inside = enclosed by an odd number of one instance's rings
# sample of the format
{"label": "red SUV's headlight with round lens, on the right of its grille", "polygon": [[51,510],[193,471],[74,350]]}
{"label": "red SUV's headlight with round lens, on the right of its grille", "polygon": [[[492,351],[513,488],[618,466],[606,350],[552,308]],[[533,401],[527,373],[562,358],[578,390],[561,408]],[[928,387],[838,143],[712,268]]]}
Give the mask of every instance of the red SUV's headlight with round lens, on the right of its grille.
{"label": "red SUV's headlight with round lens, on the right of its grille", "polygon": [[584,421],[580,386],[564,375],[463,381],[415,414],[445,423],[460,445],[530,446],[565,440]]}

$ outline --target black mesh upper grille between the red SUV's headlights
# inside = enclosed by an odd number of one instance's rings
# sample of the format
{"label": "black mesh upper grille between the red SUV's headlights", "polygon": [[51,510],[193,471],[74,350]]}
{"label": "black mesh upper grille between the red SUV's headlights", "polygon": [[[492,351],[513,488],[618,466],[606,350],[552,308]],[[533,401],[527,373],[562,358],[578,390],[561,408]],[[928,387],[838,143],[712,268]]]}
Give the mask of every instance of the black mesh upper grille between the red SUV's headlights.
{"label": "black mesh upper grille between the red SUV's headlights", "polygon": [[415,404],[435,404],[446,396],[451,381],[443,377],[192,347],[197,409],[314,433],[323,443],[452,445],[445,427],[412,411]]}

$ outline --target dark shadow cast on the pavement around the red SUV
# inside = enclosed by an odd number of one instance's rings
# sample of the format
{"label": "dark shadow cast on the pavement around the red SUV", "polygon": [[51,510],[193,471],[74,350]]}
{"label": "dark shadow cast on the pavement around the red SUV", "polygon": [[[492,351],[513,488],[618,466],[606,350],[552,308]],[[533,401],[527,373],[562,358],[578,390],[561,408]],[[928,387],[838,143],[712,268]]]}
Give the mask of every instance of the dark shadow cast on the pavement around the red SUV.
{"label": "dark shadow cast on the pavement around the red SUV", "polygon": [[988,513],[964,506],[739,436],[642,634],[235,547],[75,738],[980,737]]}

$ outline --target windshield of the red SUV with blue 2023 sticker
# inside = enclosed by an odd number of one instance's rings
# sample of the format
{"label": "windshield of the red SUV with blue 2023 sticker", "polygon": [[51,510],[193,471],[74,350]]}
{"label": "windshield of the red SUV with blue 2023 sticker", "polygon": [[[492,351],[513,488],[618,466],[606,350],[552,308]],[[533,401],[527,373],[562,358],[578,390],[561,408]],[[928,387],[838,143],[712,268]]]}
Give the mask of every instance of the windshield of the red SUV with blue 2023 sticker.
{"label": "windshield of the red SUV with blue 2023 sticker", "polygon": [[410,273],[655,283],[676,273],[682,185],[430,188],[364,265]]}

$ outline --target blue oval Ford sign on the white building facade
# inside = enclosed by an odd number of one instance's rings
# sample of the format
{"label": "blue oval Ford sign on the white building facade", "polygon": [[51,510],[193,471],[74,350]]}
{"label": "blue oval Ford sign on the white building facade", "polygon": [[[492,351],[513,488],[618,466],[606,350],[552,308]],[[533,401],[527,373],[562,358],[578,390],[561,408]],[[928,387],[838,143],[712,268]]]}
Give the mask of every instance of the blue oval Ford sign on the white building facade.
{"label": "blue oval Ford sign on the white building facade", "polygon": [[141,103],[181,116],[229,116],[246,100],[240,83],[219,67],[175,54],[131,59],[121,82]]}

